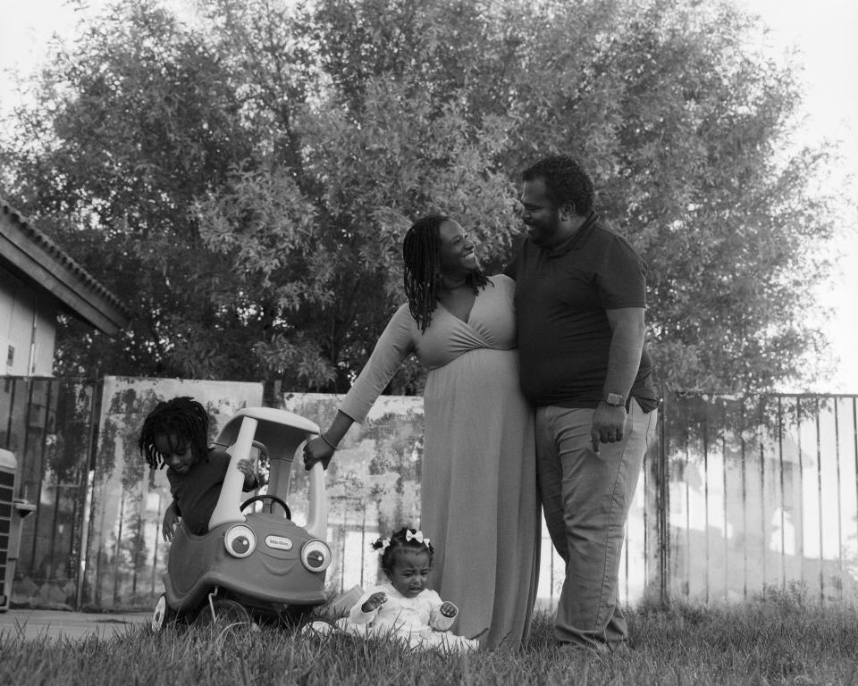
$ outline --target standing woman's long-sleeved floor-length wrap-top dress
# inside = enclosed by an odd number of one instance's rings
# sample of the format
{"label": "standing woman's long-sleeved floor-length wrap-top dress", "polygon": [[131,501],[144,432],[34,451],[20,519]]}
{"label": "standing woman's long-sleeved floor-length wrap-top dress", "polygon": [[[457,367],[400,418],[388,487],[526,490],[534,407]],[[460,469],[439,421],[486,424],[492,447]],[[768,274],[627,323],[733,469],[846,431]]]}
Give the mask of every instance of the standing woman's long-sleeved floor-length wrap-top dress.
{"label": "standing woman's long-sleeved floor-length wrap-top dress", "polygon": [[423,334],[402,305],[340,407],[363,422],[408,354],[428,368],[420,529],[435,548],[431,585],[458,606],[455,632],[484,648],[526,638],[538,578],[534,422],[518,389],[514,290],[494,276],[467,322],[438,305]]}

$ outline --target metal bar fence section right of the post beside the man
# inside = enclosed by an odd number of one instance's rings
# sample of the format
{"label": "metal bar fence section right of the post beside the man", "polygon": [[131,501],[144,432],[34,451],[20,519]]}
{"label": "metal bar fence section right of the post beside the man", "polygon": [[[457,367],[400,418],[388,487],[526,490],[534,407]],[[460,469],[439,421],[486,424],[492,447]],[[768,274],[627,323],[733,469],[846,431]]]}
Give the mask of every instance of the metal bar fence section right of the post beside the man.
{"label": "metal bar fence section right of the post beside the man", "polygon": [[855,396],[665,399],[671,597],[858,599]]}

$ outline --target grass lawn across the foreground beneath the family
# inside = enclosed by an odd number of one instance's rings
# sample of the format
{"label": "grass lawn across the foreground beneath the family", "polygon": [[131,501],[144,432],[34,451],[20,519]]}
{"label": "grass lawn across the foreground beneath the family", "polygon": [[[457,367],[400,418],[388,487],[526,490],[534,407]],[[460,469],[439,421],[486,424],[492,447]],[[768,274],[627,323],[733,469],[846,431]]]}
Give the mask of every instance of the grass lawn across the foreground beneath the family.
{"label": "grass lawn across the foreground beneath the family", "polygon": [[858,684],[858,612],[775,594],[736,607],[639,609],[634,650],[560,654],[539,616],[526,648],[468,657],[409,655],[381,642],[264,628],[147,628],[113,639],[0,636],[0,684]]}

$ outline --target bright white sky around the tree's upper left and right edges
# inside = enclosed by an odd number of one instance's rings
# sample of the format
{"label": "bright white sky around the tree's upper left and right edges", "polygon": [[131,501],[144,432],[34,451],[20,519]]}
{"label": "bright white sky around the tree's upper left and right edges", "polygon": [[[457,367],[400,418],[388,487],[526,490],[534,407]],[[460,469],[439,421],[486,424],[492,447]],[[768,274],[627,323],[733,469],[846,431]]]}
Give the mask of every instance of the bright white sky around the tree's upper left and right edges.
{"label": "bright white sky around the tree's upper left and right edges", "polygon": [[[823,138],[841,141],[844,162],[829,189],[849,194],[858,204],[858,0],[734,0],[761,16],[770,27],[762,47],[775,57],[789,46],[800,51],[803,64],[806,114],[797,143],[817,143]],[[46,57],[51,36],[70,38],[80,11],[64,0],[3,0],[0,21],[0,70],[29,72]],[[88,0],[84,16],[92,16],[108,0]],[[180,12],[188,0],[164,0]],[[13,81],[0,73],[0,112],[15,104]],[[854,181],[850,184],[847,177]],[[825,323],[832,344],[831,357],[838,357],[837,373],[830,381],[809,390],[858,394],[858,220],[843,214],[844,226],[852,227],[852,238],[837,243],[844,255],[839,272],[818,293],[820,303],[833,309]],[[818,313],[808,313],[810,319]],[[784,388],[784,391],[796,390]]]}

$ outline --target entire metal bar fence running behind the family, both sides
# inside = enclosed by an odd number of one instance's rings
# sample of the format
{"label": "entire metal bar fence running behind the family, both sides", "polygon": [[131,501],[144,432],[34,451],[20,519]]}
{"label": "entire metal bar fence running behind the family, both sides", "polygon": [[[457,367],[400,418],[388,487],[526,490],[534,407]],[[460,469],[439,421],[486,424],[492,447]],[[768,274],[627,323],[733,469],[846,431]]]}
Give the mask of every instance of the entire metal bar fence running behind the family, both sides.
{"label": "entire metal bar fence running behind the family, both sides", "polygon": [[[259,384],[0,378],[0,448],[19,460],[15,496],[38,505],[23,523],[13,604],[151,607],[169,489],[163,472],[144,469],[133,437],[153,398],[175,395],[177,384],[204,401],[215,425],[262,402]],[[325,425],[338,398],[286,394],[276,404]],[[660,409],[660,440],[629,515],[620,598],[710,603],[801,591],[821,602],[858,599],[855,396],[665,394]],[[368,541],[416,523],[422,429],[420,398],[382,397],[349,431],[328,474],[332,590],[376,581]],[[302,470],[294,485],[299,518]],[[543,601],[562,581],[543,536]]]}

